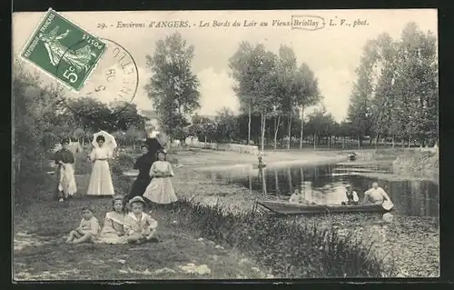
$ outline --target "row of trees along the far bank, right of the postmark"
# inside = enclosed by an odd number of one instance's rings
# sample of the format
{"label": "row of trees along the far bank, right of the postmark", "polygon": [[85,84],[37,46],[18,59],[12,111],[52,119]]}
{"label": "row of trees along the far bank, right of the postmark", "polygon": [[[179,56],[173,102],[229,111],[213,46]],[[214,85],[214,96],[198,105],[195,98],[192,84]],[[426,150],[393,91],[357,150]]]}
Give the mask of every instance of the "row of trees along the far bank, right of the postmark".
{"label": "row of trees along the far bank, right of the postmark", "polygon": [[[370,39],[356,70],[348,115],[341,123],[322,103],[318,79],[309,65],[299,63],[291,47],[277,54],[264,45],[242,42],[229,59],[233,91],[240,114],[222,109],[212,118],[194,114],[200,108],[199,81],[192,73],[194,46],[175,33],[158,41],[147,56],[152,77],[146,90],[173,139],[197,135],[200,140],[285,146],[311,143],[342,145],[369,139],[392,146],[433,145],[438,139],[437,39],[414,23],[393,40],[382,34]],[[321,109],[304,115],[306,108]]]}

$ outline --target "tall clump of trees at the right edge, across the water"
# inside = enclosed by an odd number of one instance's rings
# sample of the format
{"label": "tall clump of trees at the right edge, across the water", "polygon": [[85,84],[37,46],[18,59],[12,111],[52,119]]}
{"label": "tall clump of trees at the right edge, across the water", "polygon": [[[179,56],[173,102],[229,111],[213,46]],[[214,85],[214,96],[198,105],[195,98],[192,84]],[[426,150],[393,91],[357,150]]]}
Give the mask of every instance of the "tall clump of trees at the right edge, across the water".
{"label": "tall clump of trees at the right edge, across the water", "polygon": [[375,134],[402,141],[438,136],[437,39],[418,25],[405,26],[400,40],[382,34],[364,47],[349,120],[358,136]]}

